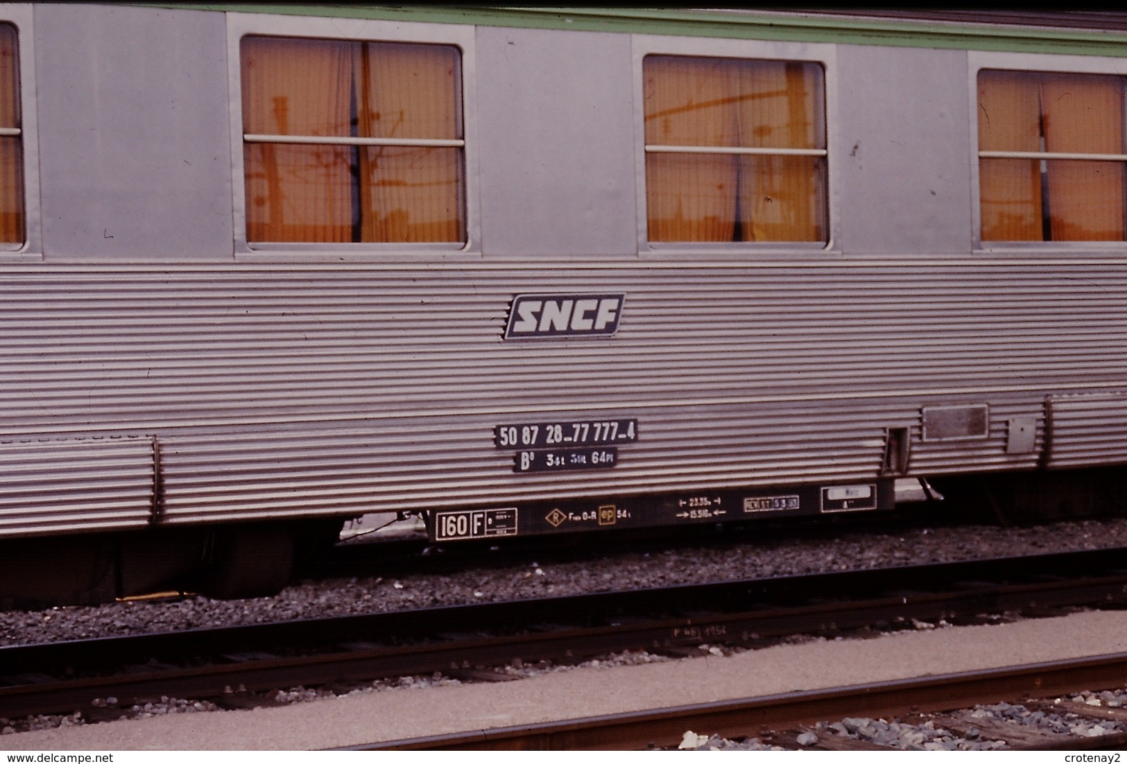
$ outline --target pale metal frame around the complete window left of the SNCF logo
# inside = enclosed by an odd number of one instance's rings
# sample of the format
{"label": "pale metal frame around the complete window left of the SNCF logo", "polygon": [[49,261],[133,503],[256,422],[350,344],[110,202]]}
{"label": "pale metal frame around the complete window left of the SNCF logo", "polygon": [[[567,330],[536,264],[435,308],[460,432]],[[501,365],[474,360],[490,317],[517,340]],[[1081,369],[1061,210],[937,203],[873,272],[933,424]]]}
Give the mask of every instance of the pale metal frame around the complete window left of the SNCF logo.
{"label": "pale metal frame around the complete window left of the SNCF logo", "polygon": [[[341,39],[370,43],[421,43],[450,45],[461,55],[462,160],[465,240],[461,242],[251,242],[247,239],[246,170],[242,131],[241,42],[246,36],[307,39]],[[385,260],[391,255],[463,257],[481,255],[478,212],[479,171],[474,128],[477,123],[472,27],[447,24],[411,24],[349,18],[309,18],[263,14],[227,15],[228,82],[231,114],[231,186],[237,260]]]}

